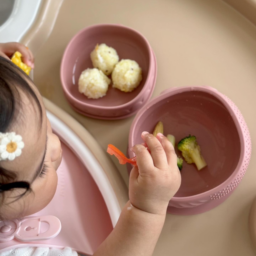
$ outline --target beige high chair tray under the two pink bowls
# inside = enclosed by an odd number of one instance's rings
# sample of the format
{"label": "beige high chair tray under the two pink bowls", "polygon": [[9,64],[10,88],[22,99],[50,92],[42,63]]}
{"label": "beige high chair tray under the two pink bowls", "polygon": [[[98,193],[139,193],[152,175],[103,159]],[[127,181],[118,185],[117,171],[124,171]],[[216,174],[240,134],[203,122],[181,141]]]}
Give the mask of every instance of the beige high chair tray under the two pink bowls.
{"label": "beige high chair tray under the two pink bowls", "polygon": [[[22,42],[36,55],[34,82],[42,95],[78,120],[103,151],[108,144],[126,151],[134,116],[108,121],[76,113],[63,95],[59,78],[60,61],[70,39],[80,29],[97,23],[123,24],[145,35],[158,63],[152,97],[170,87],[207,85],[231,98],[243,113],[254,147],[255,0],[76,0],[75,4],[65,0],[60,6],[61,2],[44,1],[47,8],[42,4],[38,19]],[[46,104],[46,108],[50,106]],[[168,214],[153,255],[255,255],[248,229],[256,196],[255,159],[253,150],[241,184],[223,204],[198,215]],[[126,167],[112,160],[127,186]],[[123,189],[123,185],[116,188]]]}

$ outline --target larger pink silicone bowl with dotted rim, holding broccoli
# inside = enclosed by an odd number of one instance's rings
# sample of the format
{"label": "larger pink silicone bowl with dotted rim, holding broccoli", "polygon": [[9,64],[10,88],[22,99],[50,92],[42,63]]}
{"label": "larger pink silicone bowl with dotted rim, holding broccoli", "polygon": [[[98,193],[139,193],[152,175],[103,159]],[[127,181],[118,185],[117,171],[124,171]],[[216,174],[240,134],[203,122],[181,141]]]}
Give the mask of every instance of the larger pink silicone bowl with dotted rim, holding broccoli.
{"label": "larger pink silicone bowl with dotted rim, holding broccoli", "polygon": [[[225,201],[241,181],[251,157],[251,138],[237,106],[212,87],[180,87],[164,91],[136,115],[130,128],[128,154],[142,142],[141,132],[153,132],[163,122],[165,135],[176,144],[189,134],[197,137],[208,166],[198,171],[183,162],[181,187],[168,212],[190,215],[208,211]],[[175,145],[175,152],[180,155]],[[128,171],[131,167],[128,166]]]}

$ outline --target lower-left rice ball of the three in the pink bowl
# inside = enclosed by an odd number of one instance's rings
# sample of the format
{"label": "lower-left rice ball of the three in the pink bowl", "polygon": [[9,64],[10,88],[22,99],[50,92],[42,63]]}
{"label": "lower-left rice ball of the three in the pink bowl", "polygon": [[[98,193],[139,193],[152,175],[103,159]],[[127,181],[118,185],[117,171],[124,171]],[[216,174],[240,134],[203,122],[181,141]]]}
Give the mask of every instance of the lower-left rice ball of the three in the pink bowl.
{"label": "lower-left rice ball of the three in the pink bowl", "polygon": [[78,80],[78,90],[89,99],[99,99],[106,95],[111,80],[101,70],[86,69]]}

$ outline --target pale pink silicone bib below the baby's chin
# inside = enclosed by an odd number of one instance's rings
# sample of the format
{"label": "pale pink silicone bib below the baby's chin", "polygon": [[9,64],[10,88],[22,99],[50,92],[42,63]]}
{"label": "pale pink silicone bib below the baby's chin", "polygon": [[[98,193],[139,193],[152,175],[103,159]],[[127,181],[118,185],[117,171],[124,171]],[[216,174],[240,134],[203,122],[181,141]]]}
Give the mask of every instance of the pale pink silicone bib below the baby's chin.
{"label": "pale pink silicone bib below the baby's chin", "polygon": [[40,212],[0,222],[0,252],[21,246],[71,247],[92,255],[113,229],[103,197],[82,161],[62,143],[53,200]]}

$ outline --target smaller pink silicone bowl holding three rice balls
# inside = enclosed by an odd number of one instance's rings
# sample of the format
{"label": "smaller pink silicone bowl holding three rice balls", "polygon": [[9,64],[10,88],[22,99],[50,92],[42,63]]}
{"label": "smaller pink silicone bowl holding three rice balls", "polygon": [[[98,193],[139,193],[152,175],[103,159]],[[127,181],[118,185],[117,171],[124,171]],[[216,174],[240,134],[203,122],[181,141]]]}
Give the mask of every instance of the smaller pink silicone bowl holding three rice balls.
{"label": "smaller pink silicone bowl holding three rice balls", "polygon": [[[83,70],[93,68],[90,53],[97,43],[115,48],[120,60],[138,62],[143,80],[131,93],[113,88],[112,84],[100,99],[88,99],[79,93],[79,76]],[[78,32],[66,47],[60,68],[63,91],[72,108],[99,119],[121,119],[135,114],[150,99],[156,74],[156,58],[146,38],[134,29],[115,24],[94,25]]]}

